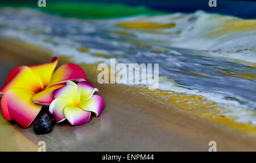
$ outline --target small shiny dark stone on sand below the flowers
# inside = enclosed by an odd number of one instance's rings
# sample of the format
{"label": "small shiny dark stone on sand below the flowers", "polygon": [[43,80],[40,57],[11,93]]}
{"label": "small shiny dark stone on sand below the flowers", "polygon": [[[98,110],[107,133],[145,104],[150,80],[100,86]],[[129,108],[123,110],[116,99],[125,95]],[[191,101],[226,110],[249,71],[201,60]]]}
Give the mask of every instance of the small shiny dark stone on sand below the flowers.
{"label": "small shiny dark stone on sand below the flowers", "polygon": [[44,114],[42,118],[36,122],[34,126],[34,131],[36,134],[46,134],[52,131],[52,120],[49,118],[47,114]]}

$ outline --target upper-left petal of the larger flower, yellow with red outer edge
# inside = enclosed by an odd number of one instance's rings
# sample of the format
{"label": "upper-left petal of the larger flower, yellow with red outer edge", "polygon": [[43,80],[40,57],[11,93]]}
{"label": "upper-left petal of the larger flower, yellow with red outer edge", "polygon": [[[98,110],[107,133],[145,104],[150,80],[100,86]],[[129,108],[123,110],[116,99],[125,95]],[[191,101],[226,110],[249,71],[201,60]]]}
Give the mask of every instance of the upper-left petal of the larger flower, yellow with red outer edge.
{"label": "upper-left petal of the larger flower, yellow with red outer edge", "polygon": [[1,87],[0,94],[4,94],[7,90],[17,87],[34,91],[43,89],[40,78],[28,66],[18,66],[12,70],[6,78],[6,84]]}

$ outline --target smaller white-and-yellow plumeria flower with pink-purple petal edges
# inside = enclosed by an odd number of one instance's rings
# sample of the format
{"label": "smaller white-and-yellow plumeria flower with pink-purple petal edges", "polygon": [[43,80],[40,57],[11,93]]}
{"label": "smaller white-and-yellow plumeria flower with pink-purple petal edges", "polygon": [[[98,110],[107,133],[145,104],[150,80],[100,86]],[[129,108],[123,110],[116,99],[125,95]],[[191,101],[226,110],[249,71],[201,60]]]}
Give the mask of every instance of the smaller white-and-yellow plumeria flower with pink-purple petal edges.
{"label": "smaller white-and-yellow plumeria flower with pink-purple petal edges", "polygon": [[99,95],[93,95],[97,88],[86,81],[79,83],[68,81],[67,85],[53,91],[55,99],[49,106],[57,123],[68,119],[72,125],[87,123],[91,112],[100,115],[104,100]]}

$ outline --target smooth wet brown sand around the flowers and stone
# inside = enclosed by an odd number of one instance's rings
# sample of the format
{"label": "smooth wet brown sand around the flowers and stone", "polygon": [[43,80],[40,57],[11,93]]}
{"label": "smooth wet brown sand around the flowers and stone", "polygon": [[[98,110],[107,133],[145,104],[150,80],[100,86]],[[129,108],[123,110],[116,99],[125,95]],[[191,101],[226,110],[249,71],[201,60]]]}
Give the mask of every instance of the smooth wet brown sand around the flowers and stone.
{"label": "smooth wet brown sand around the flowers and stone", "polygon": [[[19,65],[51,61],[51,54],[29,44],[0,40],[0,85]],[[59,65],[67,62],[60,57]],[[37,151],[38,141],[46,141],[47,151],[208,151],[216,141],[217,151],[256,151],[256,137],[187,114],[154,96],[144,96],[134,86],[100,85],[97,76],[81,65],[88,81],[105,100],[101,115],[87,124],[55,125],[47,135],[35,135],[32,126],[23,129],[0,116],[0,151]]]}

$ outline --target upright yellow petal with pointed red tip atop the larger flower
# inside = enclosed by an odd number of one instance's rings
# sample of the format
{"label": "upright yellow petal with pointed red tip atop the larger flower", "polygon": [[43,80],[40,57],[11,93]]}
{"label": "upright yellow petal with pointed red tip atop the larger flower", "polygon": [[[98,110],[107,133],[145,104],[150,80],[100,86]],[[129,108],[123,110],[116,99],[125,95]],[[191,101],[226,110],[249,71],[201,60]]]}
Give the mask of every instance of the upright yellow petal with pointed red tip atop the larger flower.
{"label": "upright yellow petal with pointed red tip atop the larger flower", "polygon": [[43,83],[43,87],[45,88],[48,85],[49,81],[51,80],[53,70],[55,70],[57,63],[58,63],[58,58],[53,57],[52,61],[49,63],[32,65],[29,67],[36,75],[39,76],[40,80]]}

